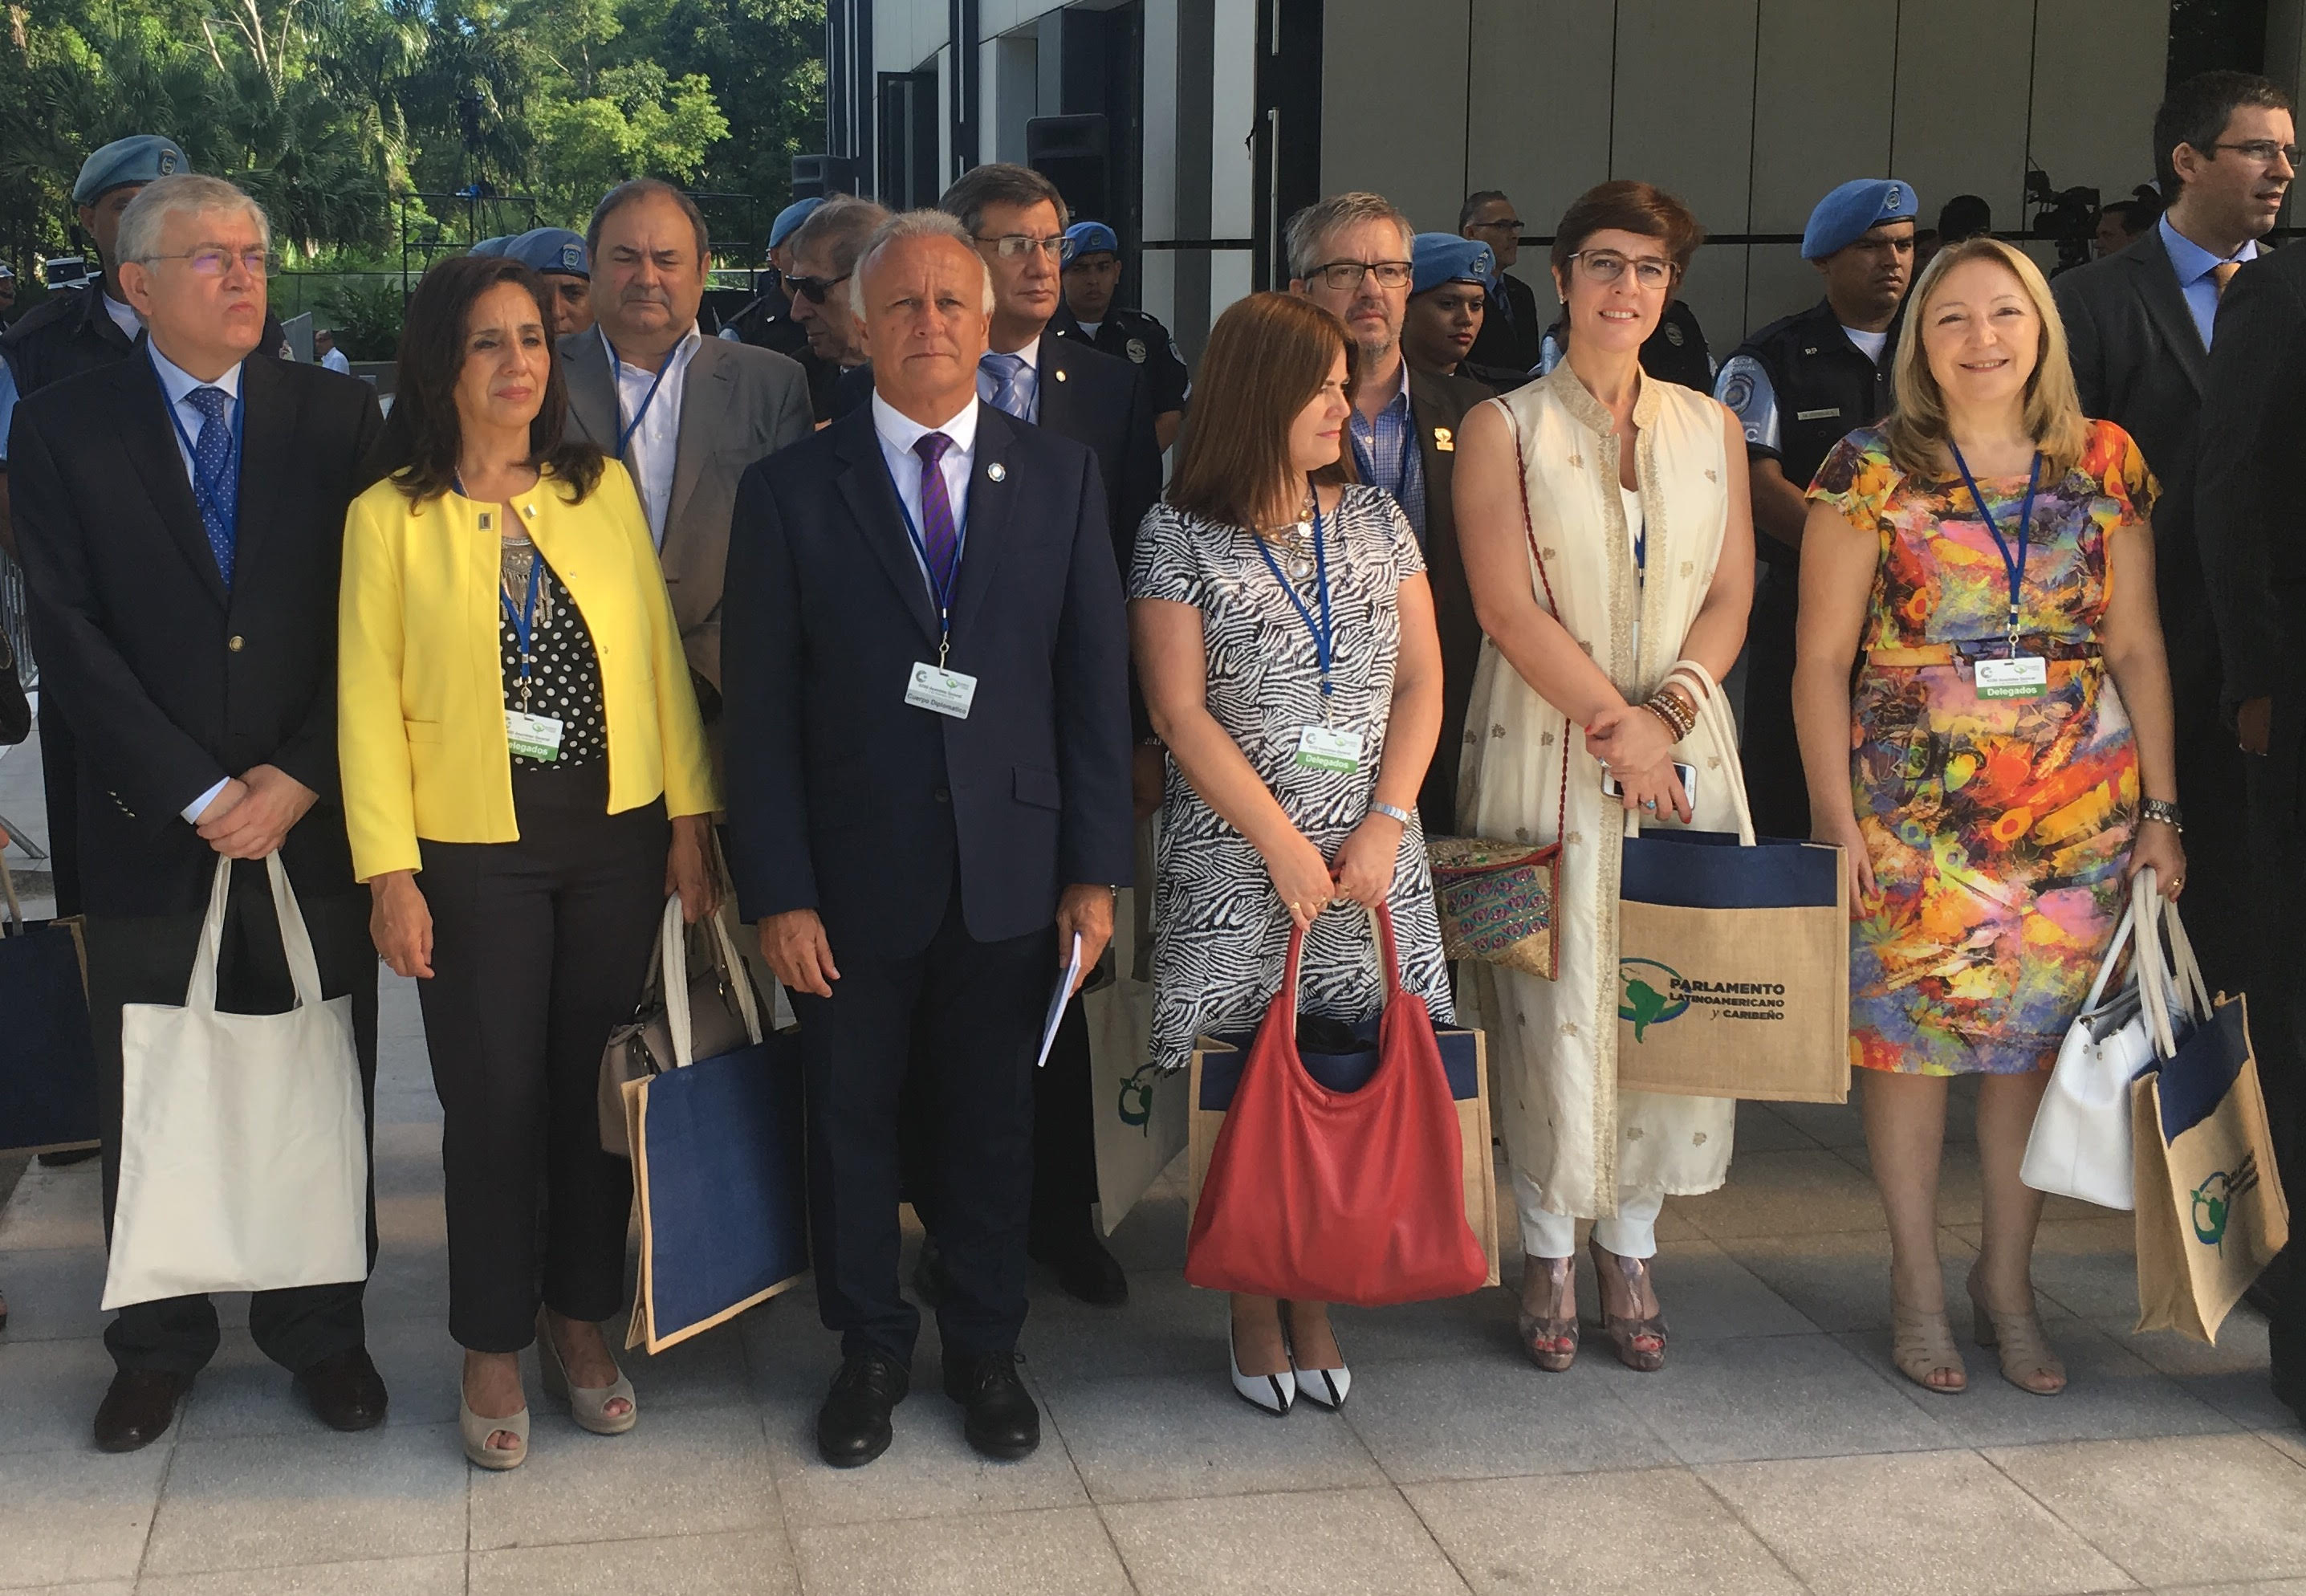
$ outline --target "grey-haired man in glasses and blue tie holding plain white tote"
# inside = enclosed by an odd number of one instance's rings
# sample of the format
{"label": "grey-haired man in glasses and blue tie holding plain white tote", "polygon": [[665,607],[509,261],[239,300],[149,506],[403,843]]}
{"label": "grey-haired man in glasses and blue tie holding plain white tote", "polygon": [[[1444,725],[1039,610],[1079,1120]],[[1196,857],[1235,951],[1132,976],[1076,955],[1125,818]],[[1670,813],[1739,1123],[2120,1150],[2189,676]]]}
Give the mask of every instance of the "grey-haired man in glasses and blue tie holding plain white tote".
{"label": "grey-haired man in glasses and blue tie holding plain white tote", "polygon": [[[217,856],[235,860],[219,1003],[293,1003],[263,858],[295,881],[321,983],[351,994],[376,1079],[376,953],[337,793],[344,512],[380,429],[374,390],[251,351],[263,210],[219,178],[150,185],[120,221],[120,286],[150,334],[129,360],[16,408],[9,466],[42,685],[81,731],[88,987],[106,1093],[104,1211],[120,1183],[127,1003],[182,1003]],[[369,1257],[376,1257],[374,1215]],[[362,1282],[258,1292],[249,1333],[323,1421],[364,1430],[385,1386]],[[122,1308],[97,1446],[161,1435],[217,1352],[208,1296]]]}

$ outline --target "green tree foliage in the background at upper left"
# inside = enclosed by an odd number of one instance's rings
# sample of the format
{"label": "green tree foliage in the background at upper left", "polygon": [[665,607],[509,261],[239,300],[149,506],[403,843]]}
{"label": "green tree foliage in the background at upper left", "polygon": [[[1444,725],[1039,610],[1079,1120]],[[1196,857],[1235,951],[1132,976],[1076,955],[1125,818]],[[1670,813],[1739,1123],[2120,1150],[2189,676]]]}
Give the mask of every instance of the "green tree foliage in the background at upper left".
{"label": "green tree foliage in the background at upper left", "polygon": [[547,224],[581,226],[636,175],[773,214],[823,127],[823,0],[0,5],[0,258],[18,265],[74,244],[81,159],[131,131],[256,194],[284,249],[383,261],[397,203],[461,238],[464,208],[417,196],[473,185],[535,196]]}

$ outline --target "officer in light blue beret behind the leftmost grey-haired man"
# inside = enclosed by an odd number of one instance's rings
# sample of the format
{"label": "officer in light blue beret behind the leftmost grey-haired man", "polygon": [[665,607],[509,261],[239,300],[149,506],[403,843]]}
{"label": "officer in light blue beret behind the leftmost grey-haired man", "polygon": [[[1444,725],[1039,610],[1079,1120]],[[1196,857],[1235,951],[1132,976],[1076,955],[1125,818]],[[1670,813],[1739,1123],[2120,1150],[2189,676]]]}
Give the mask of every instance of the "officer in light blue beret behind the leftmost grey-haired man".
{"label": "officer in light blue beret behind the leftmost grey-haired man", "polygon": [[[16,401],[37,394],[48,383],[108,367],[136,351],[143,323],[120,298],[113,277],[113,251],[120,242],[120,212],[148,182],[191,171],[191,161],[171,138],[131,134],[104,145],[85,161],[71,182],[81,231],[97,244],[106,268],[78,288],[62,288],[35,304],[0,334],[0,549],[16,554],[16,533],[7,517],[7,429],[16,420]],[[258,351],[288,357],[288,334],[265,311]],[[81,823],[71,780],[71,733],[48,703],[39,699],[39,761],[48,798],[48,853],[55,867],[55,911],[81,913]]]}

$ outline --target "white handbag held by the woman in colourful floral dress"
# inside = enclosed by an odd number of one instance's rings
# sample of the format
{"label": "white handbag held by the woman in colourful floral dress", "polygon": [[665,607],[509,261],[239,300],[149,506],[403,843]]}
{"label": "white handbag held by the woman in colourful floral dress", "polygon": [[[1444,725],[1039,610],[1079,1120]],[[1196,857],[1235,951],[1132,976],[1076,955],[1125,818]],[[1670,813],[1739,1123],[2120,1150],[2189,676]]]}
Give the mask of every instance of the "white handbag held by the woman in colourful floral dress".
{"label": "white handbag held by the woman in colourful floral dress", "polygon": [[[2131,973],[2108,996],[2131,941]],[[2207,1017],[2209,996],[2177,904],[2161,895],[2151,869],[2140,869],[2089,999],[2057,1052],[2018,1179],[2039,1192],[2133,1209],[2131,1079],[2177,1052],[2172,1022]]]}

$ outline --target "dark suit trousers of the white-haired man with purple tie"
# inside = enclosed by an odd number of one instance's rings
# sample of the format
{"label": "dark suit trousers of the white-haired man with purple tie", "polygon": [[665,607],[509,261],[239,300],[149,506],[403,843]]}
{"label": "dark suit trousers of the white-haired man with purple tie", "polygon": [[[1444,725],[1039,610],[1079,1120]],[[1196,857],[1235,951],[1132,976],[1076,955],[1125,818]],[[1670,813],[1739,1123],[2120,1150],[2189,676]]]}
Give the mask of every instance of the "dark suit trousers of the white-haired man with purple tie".
{"label": "dark suit trousers of the white-haired man with purple tie", "polygon": [[[1033,1054],[1056,983],[1056,934],[969,936],[959,888],[929,946],[876,959],[839,943],[832,996],[793,994],[809,1082],[816,1305],[842,1352],[911,1363],[920,1310],[897,1287],[899,1102],[913,1061],[934,1119],[936,1241],[952,1289],[945,1352],[1008,1352],[1024,1328],[1033,1185]],[[1086,1123],[1086,1114],[1084,1114]]]}

